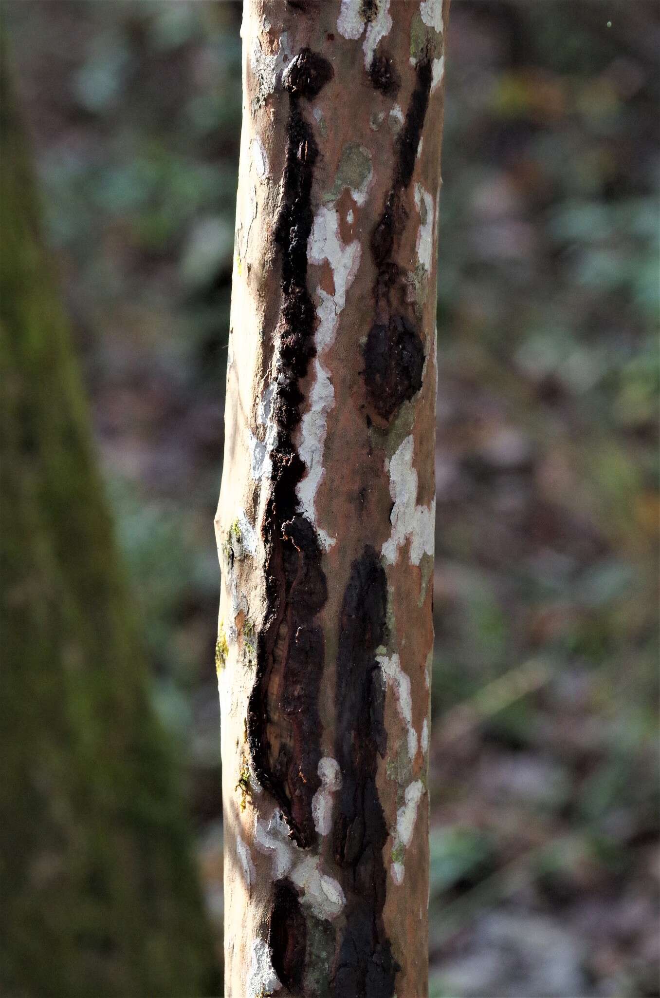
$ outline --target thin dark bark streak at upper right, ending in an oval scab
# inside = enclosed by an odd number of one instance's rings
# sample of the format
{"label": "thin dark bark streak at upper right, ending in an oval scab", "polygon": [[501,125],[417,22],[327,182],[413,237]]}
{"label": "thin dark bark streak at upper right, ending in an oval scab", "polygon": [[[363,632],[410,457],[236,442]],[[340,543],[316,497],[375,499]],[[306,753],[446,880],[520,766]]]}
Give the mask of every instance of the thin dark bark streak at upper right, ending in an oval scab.
{"label": "thin dark bark streak at upper right, ending in an oval scab", "polygon": [[[384,57],[383,57],[384,58]],[[376,59],[372,63],[372,69]],[[363,348],[367,398],[380,420],[389,424],[401,405],[422,387],[424,343],[414,314],[404,315],[405,275],[393,259],[408,221],[404,194],[410,187],[431,94],[430,59],[417,65],[417,80],[406,120],[396,141],[396,165],[383,213],[371,236],[377,267],[376,322]],[[374,86],[377,86],[376,82]]]}

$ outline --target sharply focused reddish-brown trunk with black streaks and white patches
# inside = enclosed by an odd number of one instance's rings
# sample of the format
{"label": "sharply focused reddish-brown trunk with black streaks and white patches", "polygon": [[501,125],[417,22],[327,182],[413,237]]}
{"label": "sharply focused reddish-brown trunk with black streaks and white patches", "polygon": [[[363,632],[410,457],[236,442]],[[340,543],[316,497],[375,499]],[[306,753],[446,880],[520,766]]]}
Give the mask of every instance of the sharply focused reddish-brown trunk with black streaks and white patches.
{"label": "sharply focused reddish-brown trunk with black streaks and white patches", "polygon": [[245,0],[225,995],[428,992],[441,0]]}

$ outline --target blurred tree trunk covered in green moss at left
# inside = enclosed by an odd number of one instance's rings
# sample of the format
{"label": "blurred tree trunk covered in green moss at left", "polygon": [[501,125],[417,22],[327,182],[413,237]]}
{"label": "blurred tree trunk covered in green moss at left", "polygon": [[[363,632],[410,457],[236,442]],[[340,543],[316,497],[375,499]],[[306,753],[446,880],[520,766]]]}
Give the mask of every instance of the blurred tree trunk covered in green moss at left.
{"label": "blurred tree trunk covered in green moss at left", "polygon": [[1,100],[2,991],[207,995],[182,800],[5,59]]}

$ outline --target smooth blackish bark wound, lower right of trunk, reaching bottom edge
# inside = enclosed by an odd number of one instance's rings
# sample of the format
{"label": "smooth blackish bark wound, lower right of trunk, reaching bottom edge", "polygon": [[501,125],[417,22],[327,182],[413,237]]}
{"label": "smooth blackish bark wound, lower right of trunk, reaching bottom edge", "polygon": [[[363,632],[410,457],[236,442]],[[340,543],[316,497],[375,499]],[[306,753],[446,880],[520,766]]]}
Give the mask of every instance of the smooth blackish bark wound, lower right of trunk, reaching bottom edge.
{"label": "smooth blackish bark wound, lower right of trunk, reaching bottom edge", "polygon": [[399,965],[383,923],[388,828],[376,788],[385,690],[375,654],[387,641],[387,577],[366,547],[351,566],[339,623],[335,755],[342,772],[333,828],[346,925],[332,971],[335,998],[390,998]]}

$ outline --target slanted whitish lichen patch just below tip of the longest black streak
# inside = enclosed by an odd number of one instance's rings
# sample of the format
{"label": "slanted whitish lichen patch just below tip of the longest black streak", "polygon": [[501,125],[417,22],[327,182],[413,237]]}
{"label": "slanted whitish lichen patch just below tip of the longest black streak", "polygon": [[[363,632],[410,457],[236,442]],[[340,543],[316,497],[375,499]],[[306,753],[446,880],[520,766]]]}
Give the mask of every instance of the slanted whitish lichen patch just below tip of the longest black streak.
{"label": "slanted whitish lichen patch just below tip of the longest black streak", "polygon": [[288,835],[282,812],[276,808],[270,820],[256,817],[254,840],[260,852],[272,857],[273,880],[288,876],[300,888],[301,904],[317,918],[335,918],[346,903],[341,884],[321,872],[321,858],[299,849]]}

